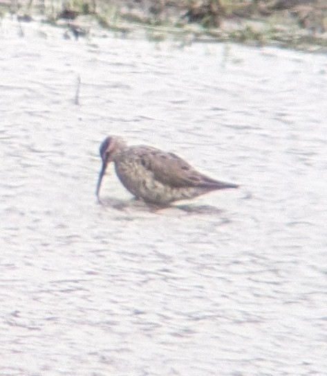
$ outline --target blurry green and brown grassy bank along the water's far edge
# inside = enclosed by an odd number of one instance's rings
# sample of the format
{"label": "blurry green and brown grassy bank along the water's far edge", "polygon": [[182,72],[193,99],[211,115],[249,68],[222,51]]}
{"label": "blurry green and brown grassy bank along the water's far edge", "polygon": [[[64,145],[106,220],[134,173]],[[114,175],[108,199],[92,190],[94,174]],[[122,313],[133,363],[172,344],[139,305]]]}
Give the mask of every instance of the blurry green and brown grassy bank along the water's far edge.
{"label": "blurry green and brown grassy bank along the water's far edge", "polygon": [[[3,3],[0,17],[6,10],[17,14],[19,21],[39,14],[51,24],[66,22],[69,28],[88,24],[88,29],[89,24],[97,24],[122,36],[143,28],[151,41],[170,35],[175,40],[180,37],[183,46],[208,38],[302,49],[327,45],[324,0],[153,0],[147,8],[140,1],[124,0],[10,1]],[[184,44],[185,40],[191,42]]]}

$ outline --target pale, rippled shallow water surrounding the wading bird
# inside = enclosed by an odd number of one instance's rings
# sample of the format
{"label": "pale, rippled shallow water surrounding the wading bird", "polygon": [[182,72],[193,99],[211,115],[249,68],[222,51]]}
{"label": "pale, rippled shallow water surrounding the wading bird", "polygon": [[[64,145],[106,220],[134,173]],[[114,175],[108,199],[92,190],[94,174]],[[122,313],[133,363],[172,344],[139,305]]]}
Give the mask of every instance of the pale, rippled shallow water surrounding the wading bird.
{"label": "pale, rippled shallow water surrounding the wading bird", "polygon": [[[1,376],[326,375],[326,56],[17,31],[3,20]],[[107,134],[242,187],[153,213],[110,172],[100,206]]]}

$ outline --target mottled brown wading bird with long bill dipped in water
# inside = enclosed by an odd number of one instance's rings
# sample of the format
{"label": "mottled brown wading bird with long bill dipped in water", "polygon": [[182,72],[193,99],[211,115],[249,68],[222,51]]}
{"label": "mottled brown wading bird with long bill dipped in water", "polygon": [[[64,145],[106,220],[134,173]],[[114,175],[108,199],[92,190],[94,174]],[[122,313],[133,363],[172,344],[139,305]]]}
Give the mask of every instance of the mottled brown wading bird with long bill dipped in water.
{"label": "mottled brown wading bird with long bill dipped in water", "polygon": [[213,190],[239,188],[207,177],[180,156],[146,145],[128,146],[120,136],[108,136],[100,145],[102,168],[95,195],[100,200],[100,187],[106,167],[113,162],[122,185],[146,204],[169,206],[183,199],[193,199]]}

